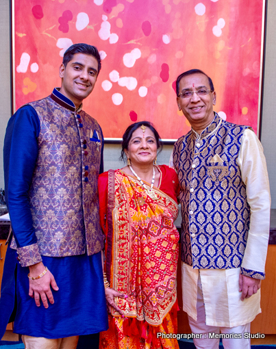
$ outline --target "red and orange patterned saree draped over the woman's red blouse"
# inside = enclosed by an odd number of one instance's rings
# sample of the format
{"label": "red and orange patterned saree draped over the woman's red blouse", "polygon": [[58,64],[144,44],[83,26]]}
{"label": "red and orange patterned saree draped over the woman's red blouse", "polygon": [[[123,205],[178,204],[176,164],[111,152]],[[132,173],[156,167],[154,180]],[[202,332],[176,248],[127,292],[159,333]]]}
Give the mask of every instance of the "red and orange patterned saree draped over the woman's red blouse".
{"label": "red and orange patterned saree draped over the woman's red blouse", "polygon": [[125,318],[112,308],[114,318],[101,333],[101,348],[178,348],[176,339],[161,341],[156,335],[177,333],[179,233],[173,222],[178,206],[171,196],[154,190],[156,200],[135,177],[108,171],[105,268],[110,287],[128,297],[115,298]]}

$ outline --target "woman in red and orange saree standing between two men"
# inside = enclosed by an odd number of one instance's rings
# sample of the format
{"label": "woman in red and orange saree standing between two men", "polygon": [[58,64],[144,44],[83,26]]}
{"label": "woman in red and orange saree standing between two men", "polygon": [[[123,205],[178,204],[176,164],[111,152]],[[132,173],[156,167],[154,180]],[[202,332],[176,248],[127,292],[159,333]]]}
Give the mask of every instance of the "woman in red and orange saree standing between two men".
{"label": "woman in red and orange saree standing between two men", "polygon": [[110,310],[100,348],[179,348],[164,336],[177,333],[179,184],[173,168],[156,165],[160,146],[151,123],[136,122],[123,135],[127,166],[99,176]]}

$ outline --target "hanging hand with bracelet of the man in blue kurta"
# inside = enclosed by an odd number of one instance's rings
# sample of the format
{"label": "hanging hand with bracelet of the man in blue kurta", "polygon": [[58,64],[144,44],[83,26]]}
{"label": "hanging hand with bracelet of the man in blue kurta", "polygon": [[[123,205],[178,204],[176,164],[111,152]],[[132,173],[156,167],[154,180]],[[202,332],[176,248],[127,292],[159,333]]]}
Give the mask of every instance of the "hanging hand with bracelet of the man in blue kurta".
{"label": "hanging hand with bracelet of the man in blue kurta", "polygon": [[[34,264],[34,266],[29,266],[29,276],[36,277],[44,270],[45,266],[42,262]],[[53,304],[54,300],[51,287],[55,291],[58,291],[58,285],[55,283],[55,278],[49,270],[40,279],[29,280],[29,296],[34,298],[37,307],[40,307],[40,298],[46,309],[49,307],[47,298]]]}

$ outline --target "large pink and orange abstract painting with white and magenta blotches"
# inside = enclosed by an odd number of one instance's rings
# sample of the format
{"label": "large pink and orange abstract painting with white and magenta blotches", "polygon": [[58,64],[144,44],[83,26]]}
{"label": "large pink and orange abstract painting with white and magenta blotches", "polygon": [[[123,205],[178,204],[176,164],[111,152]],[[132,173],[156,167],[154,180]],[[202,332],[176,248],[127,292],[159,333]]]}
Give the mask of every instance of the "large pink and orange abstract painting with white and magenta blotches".
{"label": "large pink and orange abstract painting with white and magenta blotches", "polygon": [[175,80],[199,68],[214,82],[214,109],[258,130],[264,0],[13,0],[14,112],[60,86],[64,51],[95,45],[102,69],[84,109],[106,138],[149,120],[163,139],[190,129]]}

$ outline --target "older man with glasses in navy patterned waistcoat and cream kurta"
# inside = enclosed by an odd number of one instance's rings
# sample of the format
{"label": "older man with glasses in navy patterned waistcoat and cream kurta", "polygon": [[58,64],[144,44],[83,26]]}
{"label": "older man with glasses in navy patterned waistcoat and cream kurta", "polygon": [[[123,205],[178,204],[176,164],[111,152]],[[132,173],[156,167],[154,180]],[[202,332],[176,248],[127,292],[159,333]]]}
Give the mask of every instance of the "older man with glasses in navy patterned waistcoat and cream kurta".
{"label": "older man with glasses in navy patterned waistcoat and cream kurta", "polygon": [[[183,309],[197,348],[250,348],[260,313],[268,246],[266,161],[251,127],[213,111],[212,79],[198,69],[177,78],[177,105],[192,129],[175,143],[181,185]],[[221,335],[219,333],[221,332]]]}

